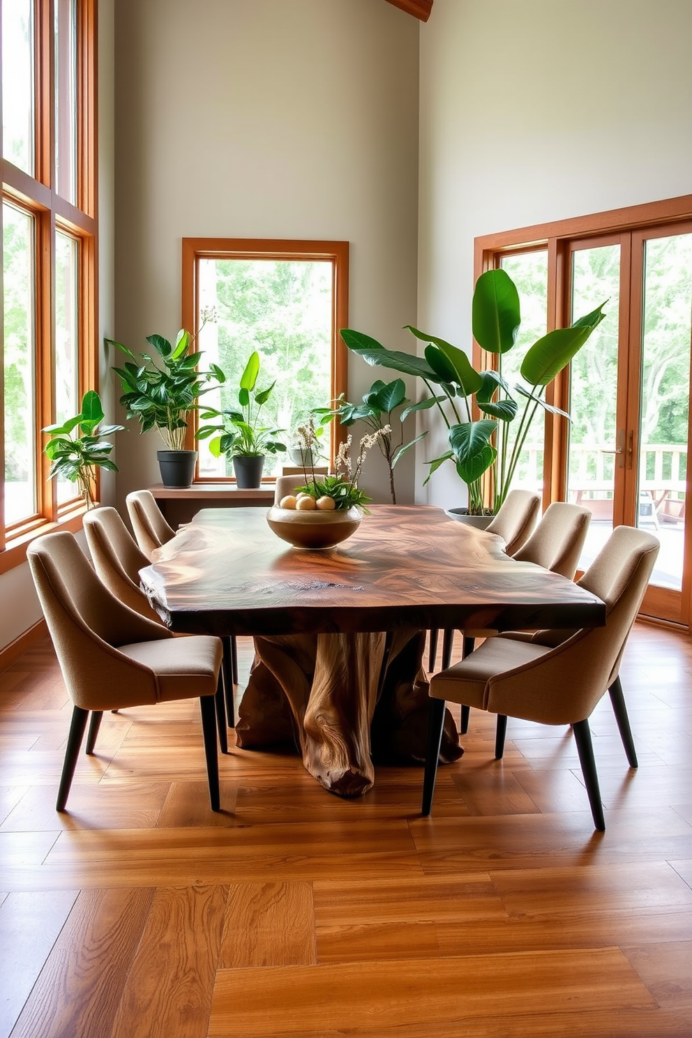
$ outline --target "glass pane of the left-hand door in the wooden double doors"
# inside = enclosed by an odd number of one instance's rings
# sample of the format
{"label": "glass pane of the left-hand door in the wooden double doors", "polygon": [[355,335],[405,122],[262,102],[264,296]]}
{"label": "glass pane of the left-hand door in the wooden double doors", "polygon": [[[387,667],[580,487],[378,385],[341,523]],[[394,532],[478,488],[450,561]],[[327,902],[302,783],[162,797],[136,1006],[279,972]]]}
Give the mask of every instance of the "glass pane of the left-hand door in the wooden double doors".
{"label": "glass pane of the left-hand door in the wooden double doors", "polygon": [[606,299],[606,318],[577,353],[570,374],[570,453],[568,500],[591,512],[586,544],[579,562],[585,569],[613,528],[619,245],[580,249],[572,260],[572,321],[589,313]]}

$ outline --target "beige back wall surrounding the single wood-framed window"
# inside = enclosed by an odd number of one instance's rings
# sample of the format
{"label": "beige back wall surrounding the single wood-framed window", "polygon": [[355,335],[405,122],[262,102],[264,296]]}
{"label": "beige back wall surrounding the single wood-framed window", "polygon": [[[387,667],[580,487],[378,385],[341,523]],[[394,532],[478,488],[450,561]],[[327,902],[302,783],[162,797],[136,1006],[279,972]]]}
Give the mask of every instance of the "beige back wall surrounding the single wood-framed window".
{"label": "beige back wall surrounding the single wood-framed window", "polygon": [[[181,239],[211,236],[350,241],[350,323],[406,342],[418,39],[415,19],[378,0],[118,0],[116,337],[175,334]],[[352,358],[350,397],[376,377]],[[120,506],[159,482],[162,445],[120,434]],[[383,466],[366,472],[380,499]],[[412,499],[412,465],[397,487]]]}

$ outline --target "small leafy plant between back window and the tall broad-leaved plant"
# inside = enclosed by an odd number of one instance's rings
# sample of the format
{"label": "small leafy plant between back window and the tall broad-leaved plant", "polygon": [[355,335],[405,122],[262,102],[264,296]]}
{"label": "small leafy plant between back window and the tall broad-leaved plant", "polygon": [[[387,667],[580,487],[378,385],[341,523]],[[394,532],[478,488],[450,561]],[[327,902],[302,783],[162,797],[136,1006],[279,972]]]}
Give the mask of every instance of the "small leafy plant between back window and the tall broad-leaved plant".
{"label": "small leafy plant between back window and the tall broad-leaved plant", "polygon": [[[327,420],[337,417],[339,422],[347,427],[353,426],[360,419],[379,434],[378,446],[389,470],[389,493],[392,504],[396,504],[394,467],[414,443],[418,443],[427,435],[427,431],[409,440],[408,443],[404,442],[404,421],[412,411],[412,408],[407,406],[411,401],[406,398],[404,379],[394,379],[393,382],[382,382],[378,379],[363,394],[362,401],[362,404],[350,404],[341,395],[334,402],[332,409],[319,409],[314,413],[329,416]],[[398,442],[395,442],[392,434],[392,415],[396,411],[399,412],[402,424]]]}

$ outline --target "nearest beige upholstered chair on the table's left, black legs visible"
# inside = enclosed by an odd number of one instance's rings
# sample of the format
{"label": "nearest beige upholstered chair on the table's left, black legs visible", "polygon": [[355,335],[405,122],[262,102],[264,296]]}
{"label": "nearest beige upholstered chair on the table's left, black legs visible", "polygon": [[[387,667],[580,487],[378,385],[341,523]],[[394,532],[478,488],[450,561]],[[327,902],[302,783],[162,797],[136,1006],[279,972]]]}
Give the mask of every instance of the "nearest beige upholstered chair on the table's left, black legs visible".
{"label": "nearest beige upholstered chair on the table's left, black legs visible", "polygon": [[175,638],[129,608],[101,583],[72,534],[36,538],[27,550],[38,599],[74,703],[56,809],[63,811],[91,713],[86,752],[93,753],[104,710],[198,698],[213,811],[219,811],[214,696],[221,641]]}

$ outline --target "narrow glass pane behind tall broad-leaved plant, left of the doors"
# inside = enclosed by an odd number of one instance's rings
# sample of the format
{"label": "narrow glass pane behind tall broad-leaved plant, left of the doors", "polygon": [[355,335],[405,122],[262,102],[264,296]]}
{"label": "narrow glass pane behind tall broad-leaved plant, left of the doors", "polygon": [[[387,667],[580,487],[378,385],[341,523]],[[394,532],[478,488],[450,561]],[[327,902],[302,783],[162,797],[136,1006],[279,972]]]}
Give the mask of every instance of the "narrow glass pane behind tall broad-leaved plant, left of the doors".
{"label": "narrow glass pane behind tall broad-leaved plant, left of the doors", "polygon": [[[500,358],[500,373],[510,389],[517,384],[526,388],[520,375],[520,367],[527,349],[537,338],[546,334],[548,328],[548,252],[525,252],[521,255],[503,256],[502,269],[517,285],[521,304],[522,323],[517,343]],[[509,449],[515,442],[528,401],[521,393],[513,392],[519,404],[517,417],[509,422]],[[529,427],[524,448],[511,480],[513,487],[525,490],[543,490],[543,456],[546,431],[545,412],[537,408]]]}

